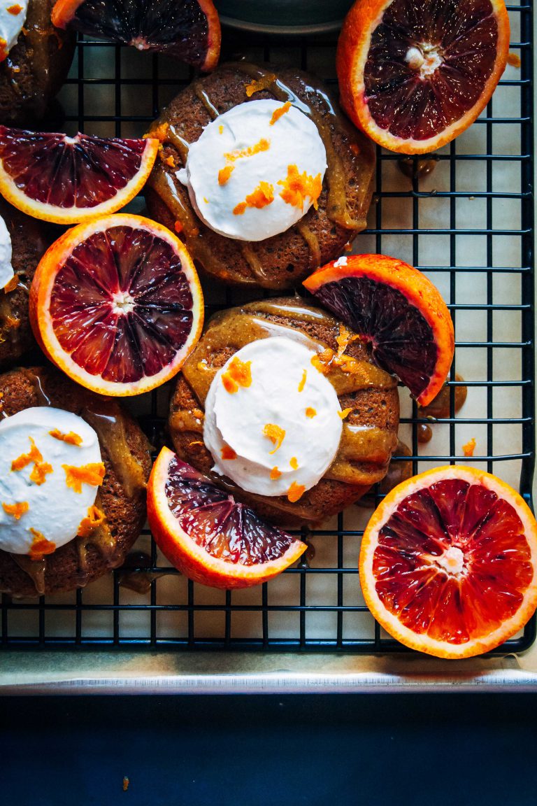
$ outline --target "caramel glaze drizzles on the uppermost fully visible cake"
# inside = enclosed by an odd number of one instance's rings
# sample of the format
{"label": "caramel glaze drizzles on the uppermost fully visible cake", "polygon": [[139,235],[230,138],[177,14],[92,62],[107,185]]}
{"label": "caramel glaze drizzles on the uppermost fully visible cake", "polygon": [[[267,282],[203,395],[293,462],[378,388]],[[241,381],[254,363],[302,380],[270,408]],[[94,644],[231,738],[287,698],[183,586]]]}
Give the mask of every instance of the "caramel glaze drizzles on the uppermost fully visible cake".
{"label": "caramel glaze drizzles on the uppermost fully visible cake", "polygon": [[[312,119],[313,123],[316,124],[320,138],[324,143],[324,149],[326,151],[326,161],[328,164],[325,174],[328,185],[328,202],[326,211],[328,218],[330,218],[330,220],[334,223],[344,226],[346,229],[361,231],[365,226],[363,220],[353,218],[347,207],[347,177],[345,176],[345,168],[343,167],[341,157],[337,154],[337,151],[334,147],[330,125],[328,125],[326,122],[324,115],[320,114],[316,110],[315,106],[310,106],[308,103],[302,101],[296,95],[296,93],[293,92],[291,87],[287,86],[287,84],[284,84],[284,82],[281,81],[281,79],[279,79],[275,73],[269,73],[265,69],[258,67],[255,64],[247,64],[245,62],[240,62],[238,64],[233,64],[230,62],[226,66],[231,68],[235,66],[242,73],[246,73],[246,75],[251,77],[254,81],[262,81],[262,88],[271,93],[273,98],[276,98],[278,101],[282,102],[290,101],[293,106],[296,106],[297,109],[308,115],[308,118]],[[328,119],[331,121],[333,126],[338,127],[339,122],[337,114],[328,96],[325,95],[320,89],[310,87],[304,82],[302,83],[304,86],[304,91],[306,93],[312,93],[315,95],[316,101],[320,102],[323,106],[324,114],[328,114]],[[211,98],[204,89],[203,84],[200,81],[194,81],[192,86],[197,98],[199,98],[200,102],[204,105],[209,116],[213,120],[217,118],[218,114],[220,113],[217,110],[217,107],[214,106],[213,102],[211,101]],[[174,147],[179,153],[182,164],[186,164],[189,143],[187,143],[187,141],[178,134],[176,129],[171,126],[171,124],[165,123],[163,118],[159,118],[155,121],[155,123],[153,123],[150,133],[159,127],[160,132],[162,132],[162,134],[159,132],[159,139],[162,140],[163,144],[168,143]],[[190,202],[188,200],[188,190],[181,185],[179,180],[165,170],[161,160],[157,160],[155,163],[155,168],[153,168],[151,177],[148,180],[148,185],[155,190],[155,193],[159,195],[159,197],[170,209],[171,214],[180,223],[180,233],[184,236],[184,240],[186,242],[188,251],[192,255],[192,258],[194,260],[199,260],[200,263],[209,271],[211,271],[212,267],[213,272],[218,273],[220,270],[219,258],[213,253],[209,243],[207,243],[206,239],[203,237],[203,234],[200,232],[200,222],[190,206]],[[299,232],[304,239],[304,243],[306,243],[310,253],[310,263],[312,268],[316,268],[320,265],[319,240],[317,239],[315,233],[304,222],[304,218],[295,224],[294,229],[295,231]],[[258,260],[254,249],[252,249],[250,244],[246,241],[240,243],[242,256],[246,260],[246,263],[250,266],[254,277],[261,280],[266,279],[266,272],[264,271],[260,260]]]}

